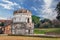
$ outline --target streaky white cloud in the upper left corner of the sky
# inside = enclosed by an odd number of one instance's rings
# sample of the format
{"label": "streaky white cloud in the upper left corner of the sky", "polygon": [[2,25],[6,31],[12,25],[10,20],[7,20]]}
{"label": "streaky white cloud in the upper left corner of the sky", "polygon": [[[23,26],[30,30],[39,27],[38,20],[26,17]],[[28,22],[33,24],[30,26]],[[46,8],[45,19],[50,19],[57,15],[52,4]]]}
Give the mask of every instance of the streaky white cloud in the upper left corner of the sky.
{"label": "streaky white cloud in the upper left corner of the sky", "polygon": [[15,2],[11,2],[9,0],[2,0],[2,2],[7,3],[0,3],[0,6],[4,7],[5,9],[14,9],[14,6],[17,6],[19,8],[21,8],[21,6]]}

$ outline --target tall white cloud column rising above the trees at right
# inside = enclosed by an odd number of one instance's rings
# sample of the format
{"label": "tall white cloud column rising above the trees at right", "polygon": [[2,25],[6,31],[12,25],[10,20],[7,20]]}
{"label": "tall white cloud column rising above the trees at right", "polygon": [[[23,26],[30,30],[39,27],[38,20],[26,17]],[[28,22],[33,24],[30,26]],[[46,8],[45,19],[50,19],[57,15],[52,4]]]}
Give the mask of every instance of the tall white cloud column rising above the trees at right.
{"label": "tall white cloud column rising above the trees at right", "polygon": [[53,0],[43,0],[44,5],[42,6],[42,17],[48,18],[50,20],[56,19],[57,12],[54,8],[51,8]]}

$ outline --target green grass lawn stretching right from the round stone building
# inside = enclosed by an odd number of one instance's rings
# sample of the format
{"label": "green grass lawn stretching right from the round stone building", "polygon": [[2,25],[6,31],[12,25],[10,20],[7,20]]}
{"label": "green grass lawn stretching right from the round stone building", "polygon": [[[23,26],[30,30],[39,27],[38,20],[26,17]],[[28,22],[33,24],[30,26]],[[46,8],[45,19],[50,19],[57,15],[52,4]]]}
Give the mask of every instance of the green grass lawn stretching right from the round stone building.
{"label": "green grass lawn stretching right from the round stone building", "polygon": [[55,32],[55,33],[60,33],[60,28],[35,28],[34,29],[34,34],[45,34],[47,32]]}

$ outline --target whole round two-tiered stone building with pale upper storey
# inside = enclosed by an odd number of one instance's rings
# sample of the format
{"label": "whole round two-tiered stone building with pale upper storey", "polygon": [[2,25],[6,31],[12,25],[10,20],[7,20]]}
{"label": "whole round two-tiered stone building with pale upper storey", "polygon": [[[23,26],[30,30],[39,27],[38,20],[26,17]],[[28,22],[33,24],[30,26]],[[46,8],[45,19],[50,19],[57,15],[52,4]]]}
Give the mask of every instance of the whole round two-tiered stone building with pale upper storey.
{"label": "whole round two-tiered stone building with pale upper storey", "polygon": [[32,13],[25,9],[14,11],[12,34],[33,34],[34,24],[32,23]]}

